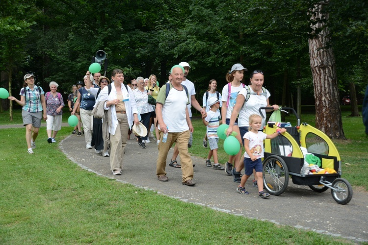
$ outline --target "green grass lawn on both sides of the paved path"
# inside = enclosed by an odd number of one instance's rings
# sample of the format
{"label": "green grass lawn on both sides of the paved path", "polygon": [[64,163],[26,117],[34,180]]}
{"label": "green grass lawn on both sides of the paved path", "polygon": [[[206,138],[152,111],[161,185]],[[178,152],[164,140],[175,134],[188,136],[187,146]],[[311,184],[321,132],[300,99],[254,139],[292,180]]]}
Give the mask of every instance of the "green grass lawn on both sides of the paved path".
{"label": "green grass lawn on both sides of the paved path", "polygon": [[[0,123],[8,124],[2,117]],[[67,116],[63,122],[66,120]],[[350,137],[337,142],[343,177],[354,187],[367,190],[367,171],[362,171],[368,167],[367,137],[361,129],[362,119],[343,117],[343,121],[345,135]],[[202,147],[205,126],[200,120],[193,120],[193,124],[190,152],[206,157],[208,149]],[[64,127],[58,139],[69,134],[70,128]],[[0,144],[4,146],[0,164],[0,244],[351,243],[218,212],[98,176],[67,159],[57,144],[43,147],[48,144],[46,132],[40,133],[37,140],[37,147],[44,150],[29,155],[24,137],[24,128],[0,129]],[[225,154],[219,157],[222,163],[227,160]]]}

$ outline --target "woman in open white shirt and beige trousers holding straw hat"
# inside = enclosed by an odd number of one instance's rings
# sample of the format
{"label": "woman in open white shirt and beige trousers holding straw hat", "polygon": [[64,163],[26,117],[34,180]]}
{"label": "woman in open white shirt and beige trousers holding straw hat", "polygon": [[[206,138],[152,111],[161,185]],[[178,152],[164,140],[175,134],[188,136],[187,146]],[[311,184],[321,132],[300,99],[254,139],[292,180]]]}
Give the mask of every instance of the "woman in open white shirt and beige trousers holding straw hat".
{"label": "woman in open white shirt and beige trousers holding straw hat", "polygon": [[128,130],[133,121],[139,124],[138,111],[131,88],[123,84],[124,73],[120,69],[112,71],[111,92],[108,86],[101,91],[101,101],[105,102],[105,110],[109,110],[108,125],[110,133],[110,168],[113,175],[121,175],[123,167],[124,149],[128,141]]}

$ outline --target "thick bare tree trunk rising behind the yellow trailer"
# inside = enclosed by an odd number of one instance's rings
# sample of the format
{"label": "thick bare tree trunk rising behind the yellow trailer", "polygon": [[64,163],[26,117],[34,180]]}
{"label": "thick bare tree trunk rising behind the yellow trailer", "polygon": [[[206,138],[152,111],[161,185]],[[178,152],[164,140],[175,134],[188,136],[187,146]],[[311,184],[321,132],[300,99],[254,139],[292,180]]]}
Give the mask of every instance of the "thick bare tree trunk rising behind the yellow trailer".
{"label": "thick bare tree trunk rising behind the yellow trailer", "polygon": [[330,138],[346,139],[342,129],[340,97],[327,27],[328,13],[323,6],[329,0],[316,3],[311,9],[312,36],[309,38],[309,56],[315,90],[315,125]]}

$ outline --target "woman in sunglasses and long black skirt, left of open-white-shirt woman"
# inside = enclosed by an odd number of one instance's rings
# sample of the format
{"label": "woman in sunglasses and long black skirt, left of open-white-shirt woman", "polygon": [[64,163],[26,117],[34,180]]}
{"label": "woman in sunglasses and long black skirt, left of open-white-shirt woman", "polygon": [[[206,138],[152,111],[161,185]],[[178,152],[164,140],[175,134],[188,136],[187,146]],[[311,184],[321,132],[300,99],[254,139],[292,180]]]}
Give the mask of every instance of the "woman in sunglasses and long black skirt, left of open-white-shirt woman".
{"label": "woman in sunglasses and long black skirt, left of open-white-shirt woman", "polygon": [[[86,76],[87,78],[90,77],[91,73],[87,71]],[[105,76],[100,76],[97,85],[99,87],[91,87],[93,81],[89,79],[89,83],[86,84],[85,88],[88,92],[95,96],[96,103],[93,107],[96,107],[97,103],[100,101],[101,98],[101,91],[110,84],[110,80]],[[93,118],[93,129],[92,129],[92,140],[91,140],[91,147],[95,147],[96,153],[102,153],[103,156],[109,156],[107,151],[108,143],[104,144],[104,137],[103,137],[103,129],[102,129],[103,120],[100,118]]]}

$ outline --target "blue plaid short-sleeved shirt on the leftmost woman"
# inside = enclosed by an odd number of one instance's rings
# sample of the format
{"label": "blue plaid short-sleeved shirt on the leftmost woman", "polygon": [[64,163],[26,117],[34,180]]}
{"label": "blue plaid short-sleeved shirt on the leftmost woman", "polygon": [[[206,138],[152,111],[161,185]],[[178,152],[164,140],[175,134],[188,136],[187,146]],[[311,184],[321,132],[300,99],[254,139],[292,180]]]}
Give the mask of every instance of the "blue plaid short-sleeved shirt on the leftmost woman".
{"label": "blue plaid short-sleeved shirt on the leftmost woman", "polygon": [[[26,91],[26,94],[25,94]],[[23,106],[23,110],[28,112],[40,112],[42,111],[41,95],[45,94],[41,87],[34,85],[33,90],[28,86],[21,89],[21,96],[26,97],[26,103]]]}

